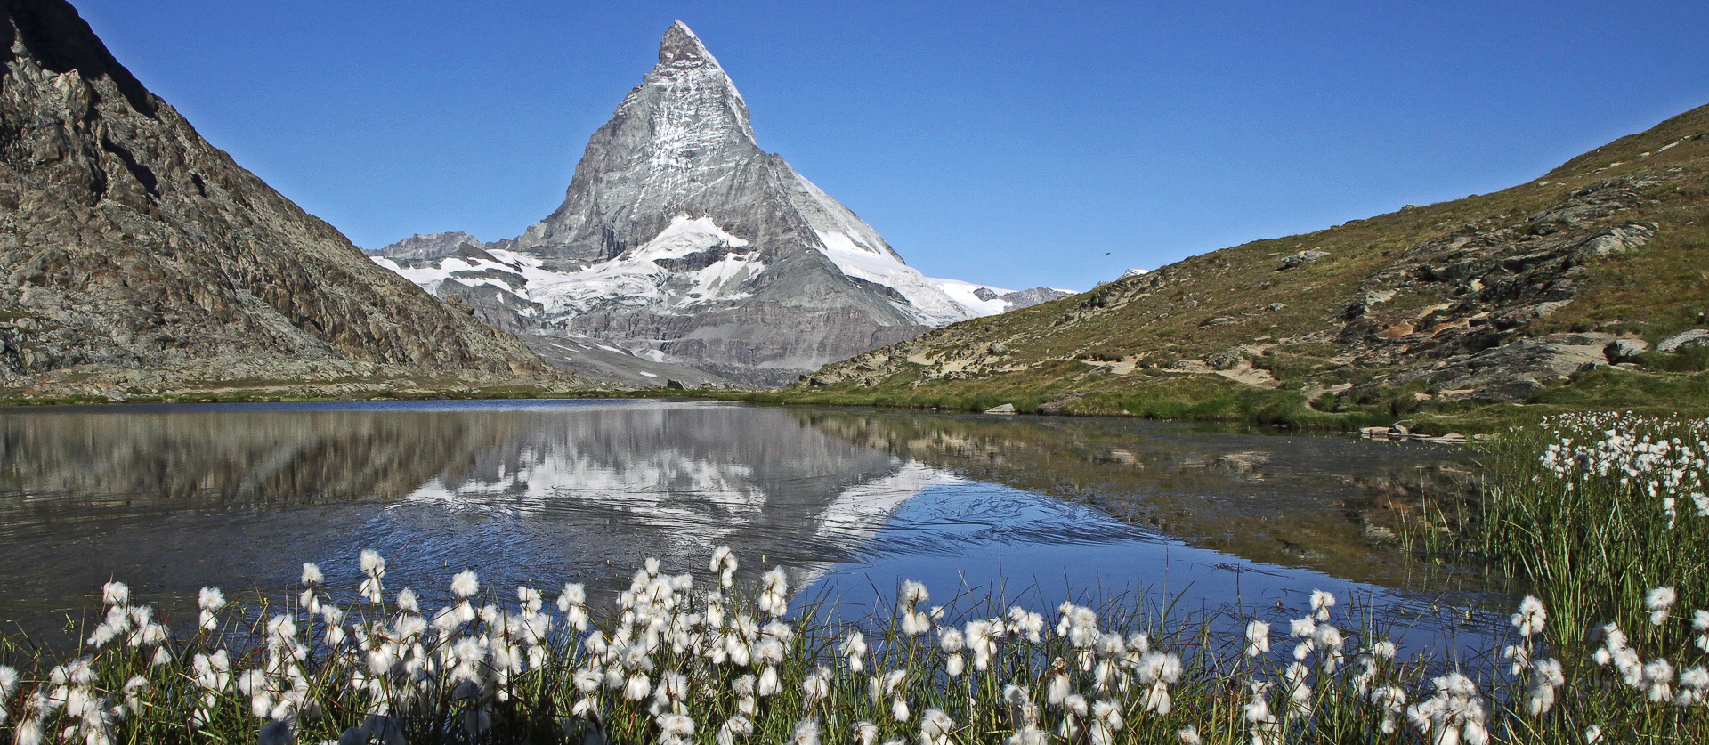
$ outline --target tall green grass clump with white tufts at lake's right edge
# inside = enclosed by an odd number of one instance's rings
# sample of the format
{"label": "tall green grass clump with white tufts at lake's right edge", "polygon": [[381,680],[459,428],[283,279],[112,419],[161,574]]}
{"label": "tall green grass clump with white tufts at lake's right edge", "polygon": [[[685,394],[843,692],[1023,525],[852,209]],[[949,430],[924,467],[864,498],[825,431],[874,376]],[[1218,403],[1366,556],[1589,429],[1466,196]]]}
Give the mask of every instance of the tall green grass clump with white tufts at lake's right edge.
{"label": "tall green grass clump with white tufts at lake's right edge", "polygon": [[1565,414],[1499,439],[1468,542],[1531,579],[1557,639],[1649,627],[1654,588],[1709,595],[1709,420]]}

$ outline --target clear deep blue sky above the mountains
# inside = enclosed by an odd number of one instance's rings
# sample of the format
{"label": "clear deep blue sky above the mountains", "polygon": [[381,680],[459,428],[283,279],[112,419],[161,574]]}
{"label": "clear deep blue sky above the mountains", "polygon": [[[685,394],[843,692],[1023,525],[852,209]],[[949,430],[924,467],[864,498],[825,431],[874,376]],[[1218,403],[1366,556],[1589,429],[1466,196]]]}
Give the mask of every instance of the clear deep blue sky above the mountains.
{"label": "clear deep blue sky above the mountains", "polygon": [[928,275],[1015,289],[1494,191],[1709,103],[1702,2],[73,3],[369,248],[545,217],[682,19],[761,147]]}

